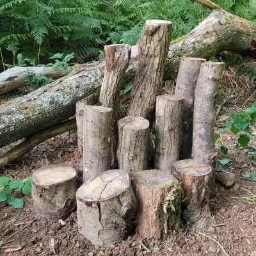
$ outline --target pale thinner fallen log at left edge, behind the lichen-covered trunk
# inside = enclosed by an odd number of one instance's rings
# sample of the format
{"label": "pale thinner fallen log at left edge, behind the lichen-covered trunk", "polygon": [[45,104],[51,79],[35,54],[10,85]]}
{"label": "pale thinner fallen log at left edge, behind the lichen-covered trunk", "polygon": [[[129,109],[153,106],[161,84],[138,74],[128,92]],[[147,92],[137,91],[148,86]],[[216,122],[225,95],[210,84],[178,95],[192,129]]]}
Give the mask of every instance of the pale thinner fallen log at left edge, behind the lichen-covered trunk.
{"label": "pale thinner fallen log at left edge, behind the lichen-covered trunk", "polygon": [[58,79],[65,75],[62,67],[14,67],[0,74],[0,95],[12,92],[17,88],[26,86],[26,76],[28,72],[34,73],[36,76],[52,77]]}

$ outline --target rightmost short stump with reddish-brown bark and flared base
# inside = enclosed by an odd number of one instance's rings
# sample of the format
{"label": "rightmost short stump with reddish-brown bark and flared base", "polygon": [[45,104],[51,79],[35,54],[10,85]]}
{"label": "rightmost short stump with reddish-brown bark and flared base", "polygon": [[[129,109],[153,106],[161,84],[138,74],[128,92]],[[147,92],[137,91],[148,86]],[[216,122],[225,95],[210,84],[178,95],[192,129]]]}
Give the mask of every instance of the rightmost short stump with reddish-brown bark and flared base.
{"label": "rightmost short stump with reddish-brown bark and flared base", "polygon": [[180,160],[173,164],[173,174],[184,191],[184,219],[196,228],[211,227],[215,223],[209,207],[211,166],[191,159]]}

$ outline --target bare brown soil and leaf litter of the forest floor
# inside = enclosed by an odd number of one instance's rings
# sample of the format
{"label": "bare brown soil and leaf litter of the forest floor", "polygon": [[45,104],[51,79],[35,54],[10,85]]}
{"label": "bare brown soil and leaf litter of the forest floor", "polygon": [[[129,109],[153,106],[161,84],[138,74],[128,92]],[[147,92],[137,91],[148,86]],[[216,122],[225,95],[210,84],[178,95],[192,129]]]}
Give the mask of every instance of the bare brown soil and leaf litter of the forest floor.
{"label": "bare brown soil and leaf litter of the forest floor", "polygon": [[[255,98],[250,99],[248,104],[252,105],[253,100]],[[239,107],[224,107],[217,126],[221,127],[230,118],[230,111],[237,111],[236,108]],[[255,132],[253,134],[256,135]],[[65,221],[38,219],[31,198],[24,196],[24,209],[0,204],[0,240],[4,241],[0,255],[256,256],[256,202],[247,200],[248,196],[256,195],[256,183],[243,177],[244,172],[256,172],[256,142],[250,141],[250,147],[243,150],[236,148],[236,141],[236,136],[226,132],[216,143],[218,159],[228,157],[231,160],[218,168],[235,173],[236,179],[229,189],[216,184],[216,198],[211,201],[211,212],[217,225],[207,232],[184,226],[164,241],[132,236],[108,248],[93,246],[79,234],[76,212]],[[220,152],[221,145],[228,147],[226,156]],[[38,145],[20,160],[20,164],[9,166],[8,175],[12,179],[24,179],[47,164],[62,163],[76,168],[76,148],[76,133],[67,132]]]}

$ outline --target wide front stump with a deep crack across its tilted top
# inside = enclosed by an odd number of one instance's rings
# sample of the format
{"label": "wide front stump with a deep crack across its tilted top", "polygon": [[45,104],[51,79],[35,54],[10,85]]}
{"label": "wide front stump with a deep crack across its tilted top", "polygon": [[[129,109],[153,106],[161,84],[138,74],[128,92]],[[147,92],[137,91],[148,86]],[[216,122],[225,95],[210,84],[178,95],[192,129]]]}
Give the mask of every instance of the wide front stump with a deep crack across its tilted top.
{"label": "wide front stump with a deep crack across its tilted top", "polygon": [[136,199],[127,172],[109,170],[77,190],[79,232],[92,244],[109,246],[129,236]]}

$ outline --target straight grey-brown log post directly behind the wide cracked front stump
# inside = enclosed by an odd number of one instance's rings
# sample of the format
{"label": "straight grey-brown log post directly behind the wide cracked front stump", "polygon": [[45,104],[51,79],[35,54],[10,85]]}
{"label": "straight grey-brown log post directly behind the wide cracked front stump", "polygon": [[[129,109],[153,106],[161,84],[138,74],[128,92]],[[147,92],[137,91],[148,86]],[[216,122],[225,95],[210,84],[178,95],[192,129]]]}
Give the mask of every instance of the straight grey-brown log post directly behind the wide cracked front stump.
{"label": "straight grey-brown log post directly behind the wide cracked front stump", "polygon": [[84,106],[83,182],[111,166],[112,109]]}

